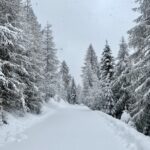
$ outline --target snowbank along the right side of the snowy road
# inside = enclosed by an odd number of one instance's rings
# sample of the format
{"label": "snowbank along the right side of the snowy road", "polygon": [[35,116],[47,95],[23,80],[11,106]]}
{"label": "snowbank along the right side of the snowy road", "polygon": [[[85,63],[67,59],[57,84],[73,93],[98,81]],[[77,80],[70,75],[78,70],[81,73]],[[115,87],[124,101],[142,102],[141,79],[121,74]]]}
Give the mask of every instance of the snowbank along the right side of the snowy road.
{"label": "snowbank along the right side of the snowy road", "polygon": [[[124,143],[128,150],[150,150],[150,137],[139,133],[136,129],[118,119],[101,112],[98,112],[98,114],[105,118],[108,126],[117,137],[120,137],[120,141]],[[128,115],[125,115],[125,119],[128,117]]]}

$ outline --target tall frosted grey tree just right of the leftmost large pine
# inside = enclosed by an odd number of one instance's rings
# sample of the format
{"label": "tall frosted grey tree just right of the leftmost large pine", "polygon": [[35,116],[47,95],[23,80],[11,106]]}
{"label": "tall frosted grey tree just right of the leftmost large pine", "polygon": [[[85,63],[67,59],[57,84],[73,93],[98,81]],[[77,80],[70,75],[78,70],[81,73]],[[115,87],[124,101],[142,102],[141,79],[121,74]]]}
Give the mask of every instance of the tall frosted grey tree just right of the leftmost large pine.
{"label": "tall frosted grey tree just right of the leftmost large pine", "polygon": [[39,92],[39,80],[41,78],[42,61],[42,34],[37,18],[33,12],[30,0],[24,1],[22,4],[19,22],[23,31],[23,38],[19,43],[22,45],[25,59],[22,60],[22,66],[27,70],[29,77],[26,80],[26,88],[24,91],[25,102],[28,111],[39,113],[41,108],[41,92]]}

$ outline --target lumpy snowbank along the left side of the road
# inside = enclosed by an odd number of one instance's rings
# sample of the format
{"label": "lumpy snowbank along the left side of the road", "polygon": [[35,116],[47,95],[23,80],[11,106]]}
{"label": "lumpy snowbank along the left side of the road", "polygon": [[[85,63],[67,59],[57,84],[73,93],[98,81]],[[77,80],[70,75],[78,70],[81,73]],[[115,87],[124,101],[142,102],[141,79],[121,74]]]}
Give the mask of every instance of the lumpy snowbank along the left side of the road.
{"label": "lumpy snowbank along the left side of the road", "polygon": [[7,114],[8,125],[0,126],[0,147],[9,142],[20,142],[26,139],[26,135],[23,133],[26,129],[42,122],[47,117],[55,113],[55,107],[62,105],[54,100],[48,104],[43,105],[42,114],[33,115],[26,114],[25,117],[18,117],[11,114]]}

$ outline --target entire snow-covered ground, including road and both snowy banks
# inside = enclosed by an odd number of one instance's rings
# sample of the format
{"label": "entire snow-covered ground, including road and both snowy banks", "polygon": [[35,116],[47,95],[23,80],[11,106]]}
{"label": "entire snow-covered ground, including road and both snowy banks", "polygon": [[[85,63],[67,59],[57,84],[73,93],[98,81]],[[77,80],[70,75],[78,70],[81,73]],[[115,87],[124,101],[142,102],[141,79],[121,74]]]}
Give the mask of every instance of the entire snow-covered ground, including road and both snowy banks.
{"label": "entire snow-covered ground, including road and both snowy banks", "polygon": [[9,116],[0,150],[150,150],[150,138],[102,112],[51,102],[40,116]]}

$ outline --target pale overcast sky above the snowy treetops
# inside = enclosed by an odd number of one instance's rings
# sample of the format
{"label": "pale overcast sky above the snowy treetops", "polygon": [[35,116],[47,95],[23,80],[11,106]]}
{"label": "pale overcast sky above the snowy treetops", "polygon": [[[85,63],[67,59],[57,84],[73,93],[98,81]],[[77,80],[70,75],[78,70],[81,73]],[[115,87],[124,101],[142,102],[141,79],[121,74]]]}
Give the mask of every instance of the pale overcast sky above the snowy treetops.
{"label": "pale overcast sky above the snowy treetops", "polygon": [[39,22],[52,24],[60,60],[65,59],[71,74],[80,83],[86,50],[93,44],[100,58],[109,41],[114,56],[120,38],[134,25],[134,0],[32,0]]}

